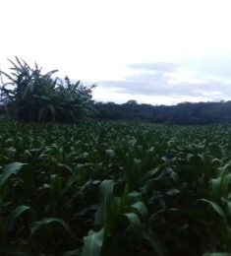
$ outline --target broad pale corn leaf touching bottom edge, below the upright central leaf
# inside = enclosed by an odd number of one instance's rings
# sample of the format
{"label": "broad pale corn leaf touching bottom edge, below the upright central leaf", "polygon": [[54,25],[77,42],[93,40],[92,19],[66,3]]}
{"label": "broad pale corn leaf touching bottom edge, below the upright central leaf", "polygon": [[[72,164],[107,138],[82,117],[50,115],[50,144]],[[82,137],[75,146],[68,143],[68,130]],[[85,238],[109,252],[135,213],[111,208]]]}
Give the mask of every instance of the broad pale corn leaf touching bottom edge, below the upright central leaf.
{"label": "broad pale corn leaf touching bottom edge, below the upright central leaf", "polygon": [[89,230],[88,235],[84,237],[84,247],[82,256],[100,256],[104,241],[104,228],[98,231]]}

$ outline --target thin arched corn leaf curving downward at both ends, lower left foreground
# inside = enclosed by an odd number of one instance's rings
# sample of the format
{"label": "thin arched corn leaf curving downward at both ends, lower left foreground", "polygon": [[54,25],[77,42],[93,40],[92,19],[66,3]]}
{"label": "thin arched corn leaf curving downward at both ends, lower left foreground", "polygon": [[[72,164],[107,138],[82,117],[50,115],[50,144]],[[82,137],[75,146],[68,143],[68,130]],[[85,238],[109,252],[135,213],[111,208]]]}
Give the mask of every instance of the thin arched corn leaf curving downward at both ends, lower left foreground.
{"label": "thin arched corn leaf curving downward at both ends, lower left foreground", "polygon": [[61,219],[58,218],[45,218],[41,221],[34,222],[31,224],[30,234],[33,235],[36,231],[40,230],[41,228],[48,226],[49,224],[60,224],[62,225],[67,231],[70,231],[69,225]]}

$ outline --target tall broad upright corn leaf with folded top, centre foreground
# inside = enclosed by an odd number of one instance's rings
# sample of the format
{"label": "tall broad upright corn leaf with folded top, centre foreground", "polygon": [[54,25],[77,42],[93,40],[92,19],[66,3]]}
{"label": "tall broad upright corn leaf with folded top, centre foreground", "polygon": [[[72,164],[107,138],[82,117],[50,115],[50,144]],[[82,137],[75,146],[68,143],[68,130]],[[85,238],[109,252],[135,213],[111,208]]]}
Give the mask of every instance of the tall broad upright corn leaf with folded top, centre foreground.
{"label": "tall broad upright corn leaf with folded top, centre foreground", "polygon": [[114,187],[113,180],[103,180],[99,187],[99,205],[95,214],[95,224],[102,226],[106,223],[110,200]]}

